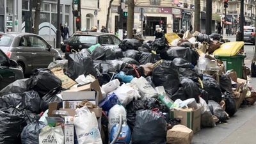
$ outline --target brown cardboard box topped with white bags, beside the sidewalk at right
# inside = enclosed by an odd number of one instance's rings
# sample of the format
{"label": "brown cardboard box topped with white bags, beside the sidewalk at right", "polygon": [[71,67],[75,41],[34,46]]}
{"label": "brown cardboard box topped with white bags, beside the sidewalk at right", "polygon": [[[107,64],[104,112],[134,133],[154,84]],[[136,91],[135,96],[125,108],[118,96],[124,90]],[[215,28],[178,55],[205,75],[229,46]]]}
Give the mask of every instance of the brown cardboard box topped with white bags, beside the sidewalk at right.
{"label": "brown cardboard box topped with white bags, beside the sidewalk at right", "polygon": [[201,129],[201,108],[193,111],[173,109],[170,111],[170,118],[180,118],[180,124],[192,129],[194,134]]}

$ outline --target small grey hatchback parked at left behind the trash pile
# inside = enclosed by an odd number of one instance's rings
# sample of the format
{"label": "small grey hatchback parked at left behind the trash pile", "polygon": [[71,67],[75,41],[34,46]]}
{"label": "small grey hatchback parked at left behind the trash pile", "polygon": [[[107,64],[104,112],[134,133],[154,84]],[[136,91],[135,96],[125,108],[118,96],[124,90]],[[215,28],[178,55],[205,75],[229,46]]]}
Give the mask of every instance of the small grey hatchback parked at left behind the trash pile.
{"label": "small grey hatchback parked at left behind the trash pile", "polygon": [[34,68],[47,68],[52,61],[61,59],[60,52],[32,33],[0,34],[0,49],[8,58],[17,61],[24,74],[31,74]]}

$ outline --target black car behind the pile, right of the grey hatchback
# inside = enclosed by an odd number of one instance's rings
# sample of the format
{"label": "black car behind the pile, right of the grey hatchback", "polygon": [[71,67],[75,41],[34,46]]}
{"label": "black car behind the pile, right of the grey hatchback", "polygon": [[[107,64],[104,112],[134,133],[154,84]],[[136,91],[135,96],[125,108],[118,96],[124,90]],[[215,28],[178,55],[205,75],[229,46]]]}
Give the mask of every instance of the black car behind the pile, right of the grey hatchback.
{"label": "black car behind the pile, right of the grey hatchback", "polygon": [[65,56],[71,52],[78,52],[81,49],[88,49],[92,45],[109,45],[117,49],[121,40],[111,33],[81,32],[72,35],[65,44]]}

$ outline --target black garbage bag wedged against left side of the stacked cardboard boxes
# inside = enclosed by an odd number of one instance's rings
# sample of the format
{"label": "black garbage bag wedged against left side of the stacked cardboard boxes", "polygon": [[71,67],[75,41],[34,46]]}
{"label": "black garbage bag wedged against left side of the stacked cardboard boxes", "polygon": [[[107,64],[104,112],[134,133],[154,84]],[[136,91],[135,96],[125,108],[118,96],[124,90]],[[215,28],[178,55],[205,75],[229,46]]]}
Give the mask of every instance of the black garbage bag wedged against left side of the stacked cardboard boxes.
{"label": "black garbage bag wedged against left side of the stacked cardboard boxes", "polygon": [[62,99],[60,99],[60,97],[57,96],[60,92],[61,92],[60,88],[54,88],[49,93],[44,95],[40,103],[41,111],[46,111],[49,107],[49,103],[51,102],[58,102],[58,103],[62,102]]}

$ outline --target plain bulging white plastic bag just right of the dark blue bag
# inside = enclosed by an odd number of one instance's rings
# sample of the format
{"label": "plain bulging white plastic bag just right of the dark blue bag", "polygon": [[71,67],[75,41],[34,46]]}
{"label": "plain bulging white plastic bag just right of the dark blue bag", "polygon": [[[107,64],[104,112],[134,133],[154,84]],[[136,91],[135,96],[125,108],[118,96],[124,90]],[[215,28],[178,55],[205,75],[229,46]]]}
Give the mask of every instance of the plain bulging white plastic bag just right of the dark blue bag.
{"label": "plain bulging white plastic bag just right of the dark blue bag", "polygon": [[115,91],[113,91],[113,93],[116,93],[118,100],[123,106],[129,104],[133,98],[138,99],[140,97],[138,90],[134,90],[127,84],[122,84],[122,86],[119,86]]}

